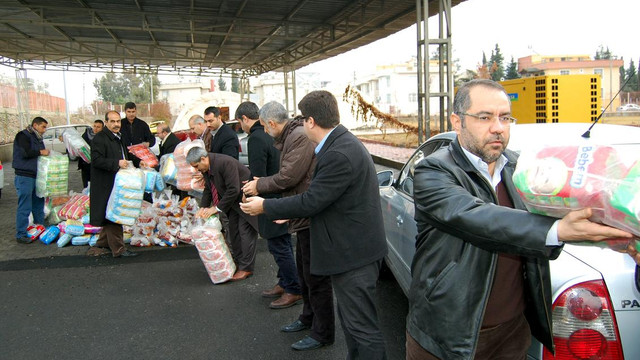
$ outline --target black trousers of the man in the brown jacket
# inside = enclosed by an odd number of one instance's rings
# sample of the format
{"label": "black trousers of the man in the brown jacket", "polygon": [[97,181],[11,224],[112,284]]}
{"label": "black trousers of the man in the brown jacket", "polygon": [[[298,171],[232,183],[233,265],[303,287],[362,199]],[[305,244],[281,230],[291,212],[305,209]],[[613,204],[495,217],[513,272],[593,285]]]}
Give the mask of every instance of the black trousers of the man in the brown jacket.
{"label": "black trousers of the man in the brown jacket", "polygon": [[321,343],[333,343],[335,316],[333,314],[333,289],[329,276],[311,274],[311,233],[309,229],[296,233],[296,261],[298,279],[302,290],[302,314],[298,320],[311,325],[311,336]]}

